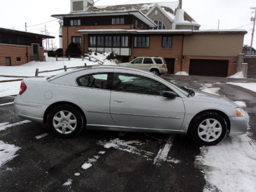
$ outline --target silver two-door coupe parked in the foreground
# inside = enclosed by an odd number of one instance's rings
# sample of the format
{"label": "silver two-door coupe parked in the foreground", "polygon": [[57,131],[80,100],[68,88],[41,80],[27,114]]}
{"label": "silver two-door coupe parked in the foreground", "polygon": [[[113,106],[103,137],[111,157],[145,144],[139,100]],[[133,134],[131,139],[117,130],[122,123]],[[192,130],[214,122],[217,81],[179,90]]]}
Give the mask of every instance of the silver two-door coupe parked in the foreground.
{"label": "silver two-door coupe parked in the foreground", "polygon": [[26,78],[18,116],[48,124],[63,138],[87,129],[190,134],[204,145],[247,131],[248,113],[219,96],[181,88],[150,72],[90,66],[50,78]]}

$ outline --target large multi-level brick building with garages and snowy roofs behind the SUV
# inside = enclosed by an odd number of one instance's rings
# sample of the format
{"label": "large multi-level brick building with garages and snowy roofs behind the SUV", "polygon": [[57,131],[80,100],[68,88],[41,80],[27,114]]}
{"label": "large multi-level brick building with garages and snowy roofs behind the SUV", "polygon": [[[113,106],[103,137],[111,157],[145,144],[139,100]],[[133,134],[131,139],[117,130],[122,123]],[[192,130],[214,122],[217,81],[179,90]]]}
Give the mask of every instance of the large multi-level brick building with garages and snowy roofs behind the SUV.
{"label": "large multi-level brick building with garages and snowy roofs behind the SUV", "polygon": [[[84,53],[114,51],[121,62],[138,56],[163,57],[170,74],[186,71],[191,75],[230,76],[236,73],[236,62],[247,32],[198,30],[200,25],[181,9],[180,2],[176,5],[135,4],[112,6],[112,9],[92,6],[52,17],[62,20],[64,52],[68,44],[74,42]],[[160,15],[160,9],[172,22],[169,20],[169,24],[164,25],[155,22],[154,16]],[[155,13],[154,16],[151,13]]]}

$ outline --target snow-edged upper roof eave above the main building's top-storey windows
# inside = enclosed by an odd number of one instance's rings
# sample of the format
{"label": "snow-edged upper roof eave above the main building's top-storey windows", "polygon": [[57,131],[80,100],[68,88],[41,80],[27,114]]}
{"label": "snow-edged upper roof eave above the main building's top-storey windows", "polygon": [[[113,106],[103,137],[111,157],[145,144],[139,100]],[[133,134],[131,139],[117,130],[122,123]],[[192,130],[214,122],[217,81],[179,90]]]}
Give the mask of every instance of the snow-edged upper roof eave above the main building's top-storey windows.
{"label": "snow-edged upper roof eave above the main building's top-storey windows", "polygon": [[140,10],[116,10],[116,11],[100,11],[100,12],[71,12],[68,14],[52,15],[54,18],[63,19],[64,17],[84,17],[84,16],[108,16],[108,15],[134,15],[150,27],[156,27],[156,24],[143,14]]}

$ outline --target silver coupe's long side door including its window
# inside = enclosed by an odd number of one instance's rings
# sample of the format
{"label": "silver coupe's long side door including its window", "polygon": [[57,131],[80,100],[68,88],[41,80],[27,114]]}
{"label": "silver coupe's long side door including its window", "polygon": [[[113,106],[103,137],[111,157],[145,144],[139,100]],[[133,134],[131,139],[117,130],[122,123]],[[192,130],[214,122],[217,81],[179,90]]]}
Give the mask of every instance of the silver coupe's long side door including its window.
{"label": "silver coupe's long side door including its window", "polygon": [[184,119],[182,98],[166,98],[170,88],[148,77],[117,72],[110,97],[110,114],[121,126],[180,130]]}

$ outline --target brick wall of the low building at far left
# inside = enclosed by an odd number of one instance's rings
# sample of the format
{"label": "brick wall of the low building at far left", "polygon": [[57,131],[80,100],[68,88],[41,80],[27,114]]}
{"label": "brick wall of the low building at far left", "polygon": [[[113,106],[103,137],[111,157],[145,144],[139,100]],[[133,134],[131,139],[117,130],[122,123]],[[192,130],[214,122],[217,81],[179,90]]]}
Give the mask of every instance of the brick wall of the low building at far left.
{"label": "brick wall of the low building at far left", "polygon": [[[32,56],[32,46],[28,46],[28,61]],[[0,44],[0,66],[6,66],[5,58],[11,58],[12,66],[19,66],[27,62],[26,58],[26,46],[16,46],[8,44]],[[17,61],[17,57],[20,57],[21,61]],[[40,47],[40,60],[44,60],[44,49]]]}

